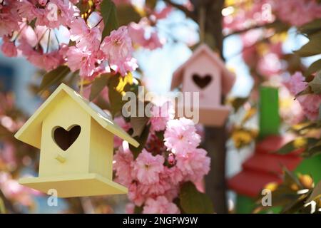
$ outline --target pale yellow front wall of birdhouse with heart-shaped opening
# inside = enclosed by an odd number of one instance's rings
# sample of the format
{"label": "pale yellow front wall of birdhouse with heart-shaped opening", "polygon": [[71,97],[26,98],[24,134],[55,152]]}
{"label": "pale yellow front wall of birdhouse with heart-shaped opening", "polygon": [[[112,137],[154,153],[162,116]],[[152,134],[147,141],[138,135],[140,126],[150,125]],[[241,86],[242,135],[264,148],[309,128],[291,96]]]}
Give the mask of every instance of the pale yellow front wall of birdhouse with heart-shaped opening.
{"label": "pale yellow front wall of birdhouse with heart-shaped opening", "polygon": [[50,108],[42,123],[39,177],[88,173],[91,116],[68,95]]}

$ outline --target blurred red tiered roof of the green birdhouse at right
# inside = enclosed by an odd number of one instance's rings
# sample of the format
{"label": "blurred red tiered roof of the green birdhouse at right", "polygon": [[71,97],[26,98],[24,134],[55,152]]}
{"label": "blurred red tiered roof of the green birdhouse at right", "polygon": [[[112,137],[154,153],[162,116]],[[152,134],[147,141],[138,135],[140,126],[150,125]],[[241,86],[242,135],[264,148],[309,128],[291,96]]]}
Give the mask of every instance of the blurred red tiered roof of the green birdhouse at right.
{"label": "blurred red tiered roof of the green birdhouse at right", "polygon": [[243,170],[228,180],[231,190],[240,195],[258,197],[260,191],[270,182],[282,182],[282,167],[295,170],[302,161],[300,152],[295,150],[287,155],[275,152],[291,138],[269,136],[256,145],[254,154],[243,163]]}

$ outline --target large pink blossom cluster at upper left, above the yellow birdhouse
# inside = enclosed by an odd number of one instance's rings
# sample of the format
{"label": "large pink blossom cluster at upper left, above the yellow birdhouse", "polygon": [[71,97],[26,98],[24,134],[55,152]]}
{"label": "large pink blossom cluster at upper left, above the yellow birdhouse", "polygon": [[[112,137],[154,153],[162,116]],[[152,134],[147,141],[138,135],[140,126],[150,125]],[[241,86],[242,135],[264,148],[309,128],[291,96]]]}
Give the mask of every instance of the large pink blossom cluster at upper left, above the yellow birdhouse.
{"label": "large pink blossom cluster at upper left, above the yellow birdhouse", "polygon": [[[81,77],[93,78],[111,71],[121,75],[134,71],[138,67],[133,58],[135,44],[149,49],[163,45],[147,19],[121,26],[103,37],[101,1],[91,1],[93,5],[88,2],[2,1],[1,51],[8,57],[25,56],[46,71],[66,64],[71,71],[79,71]],[[123,3],[128,1],[117,2]],[[85,13],[78,9],[83,4],[91,7]]]}

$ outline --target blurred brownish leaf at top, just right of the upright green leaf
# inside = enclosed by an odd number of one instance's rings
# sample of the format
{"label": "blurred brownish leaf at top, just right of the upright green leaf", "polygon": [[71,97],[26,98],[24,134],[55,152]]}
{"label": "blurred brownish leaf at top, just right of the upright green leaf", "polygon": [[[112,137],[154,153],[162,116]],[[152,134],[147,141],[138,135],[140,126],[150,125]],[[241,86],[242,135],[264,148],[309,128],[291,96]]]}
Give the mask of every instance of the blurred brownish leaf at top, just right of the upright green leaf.
{"label": "blurred brownish leaf at top, just right of the upright green leaf", "polygon": [[132,21],[138,23],[141,20],[141,15],[133,6],[127,4],[117,6],[117,19],[119,26],[126,26]]}

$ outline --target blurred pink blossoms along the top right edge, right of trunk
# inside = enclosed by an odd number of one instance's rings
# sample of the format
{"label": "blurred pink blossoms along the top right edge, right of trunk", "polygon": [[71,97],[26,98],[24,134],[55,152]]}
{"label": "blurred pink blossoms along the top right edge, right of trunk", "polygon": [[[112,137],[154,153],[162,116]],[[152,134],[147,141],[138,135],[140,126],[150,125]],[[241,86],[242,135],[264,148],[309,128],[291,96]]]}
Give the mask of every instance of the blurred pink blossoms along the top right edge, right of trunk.
{"label": "blurred pink blossoms along the top right edge, right of trunk", "polygon": [[223,10],[224,28],[228,33],[262,26],[276,19],[291,26],[302,26],[321,16],[321,4],[316,0],[259,0],[250,6],[245,1],[238,9],[229,6]]}

